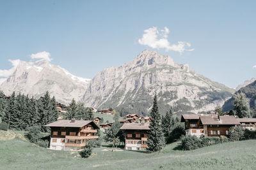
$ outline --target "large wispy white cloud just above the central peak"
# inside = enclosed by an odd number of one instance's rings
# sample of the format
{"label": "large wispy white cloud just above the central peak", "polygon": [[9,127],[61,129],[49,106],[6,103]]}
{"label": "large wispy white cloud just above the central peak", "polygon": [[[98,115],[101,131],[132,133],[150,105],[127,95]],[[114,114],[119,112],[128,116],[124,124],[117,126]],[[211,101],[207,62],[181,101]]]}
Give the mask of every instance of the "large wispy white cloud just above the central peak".
{"label": "large wispy white cloud just above the central peak", "polygon": [[138,40],[140,45],[147,45],[157,49],[165,48],[166,51],[175,51],[179,53],[195,50],[194,48],[186,49],[185,47],[190,47],[191,44],[184,41],[179,41],[178,44],[170,45],[170,42],[168,41],[168,34],[170,31],[167,27],[164,27],[164,29],[161,30],[158,30],[157,27],[151,27],[144,30],[144,32],[143,37]]}

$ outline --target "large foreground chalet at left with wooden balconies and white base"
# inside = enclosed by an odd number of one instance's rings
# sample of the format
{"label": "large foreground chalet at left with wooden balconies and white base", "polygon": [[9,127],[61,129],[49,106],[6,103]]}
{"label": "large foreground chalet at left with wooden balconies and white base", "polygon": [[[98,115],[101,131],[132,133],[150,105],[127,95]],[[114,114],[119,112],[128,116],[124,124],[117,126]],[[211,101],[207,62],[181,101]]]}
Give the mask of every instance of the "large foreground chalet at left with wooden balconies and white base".
{"label": "large foreground chalet at left with wooden balconies and white base", "polygon": [[45,125],[51,127],[52,150],[80,150],[95,136],[99,127],[92,120],[58,120]]}

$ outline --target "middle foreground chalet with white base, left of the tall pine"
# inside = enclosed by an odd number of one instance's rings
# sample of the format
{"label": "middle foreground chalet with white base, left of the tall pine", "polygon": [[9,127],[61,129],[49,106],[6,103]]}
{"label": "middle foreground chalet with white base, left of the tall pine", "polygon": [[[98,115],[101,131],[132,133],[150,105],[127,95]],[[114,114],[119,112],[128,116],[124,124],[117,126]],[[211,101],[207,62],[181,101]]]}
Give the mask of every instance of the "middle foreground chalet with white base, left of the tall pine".
{"label": "middle foreground chalet with white base, left of the tall pine", "polygon": [[125,123],[120,129],[125,131],[125,150],[146,150],[149,124]]}

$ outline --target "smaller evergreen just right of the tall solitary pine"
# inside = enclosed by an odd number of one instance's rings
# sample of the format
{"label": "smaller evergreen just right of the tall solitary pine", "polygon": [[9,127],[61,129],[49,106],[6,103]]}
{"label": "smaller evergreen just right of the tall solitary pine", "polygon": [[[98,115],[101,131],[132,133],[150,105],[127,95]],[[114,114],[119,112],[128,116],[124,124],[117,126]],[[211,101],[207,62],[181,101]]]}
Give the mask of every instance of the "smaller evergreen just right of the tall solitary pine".
{"label": "smaller evergreen just right of the tall solitary pine", "polygon": [[162,118],[162,128],[164,134],[168,135],[172,131],[172,127],[175,125],[172,110],[167,111],[165,116]]}

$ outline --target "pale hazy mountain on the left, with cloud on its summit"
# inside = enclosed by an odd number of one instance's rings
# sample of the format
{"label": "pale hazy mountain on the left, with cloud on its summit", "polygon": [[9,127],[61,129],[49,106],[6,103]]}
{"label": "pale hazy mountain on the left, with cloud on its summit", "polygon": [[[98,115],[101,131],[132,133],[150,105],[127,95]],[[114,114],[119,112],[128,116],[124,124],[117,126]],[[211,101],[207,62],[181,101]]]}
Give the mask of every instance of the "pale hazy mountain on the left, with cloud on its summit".
{"label": "pale hazy mountain on the left, with cloud on its summit", "polygon": [[48,90],[57,101],[67,104],[72,98],[80,100],[89,82],[89,79],[74,76],[47,60],[20,61],[15,72],[1,84],[0,90],[6,95],[14,91],[36,98]]}

